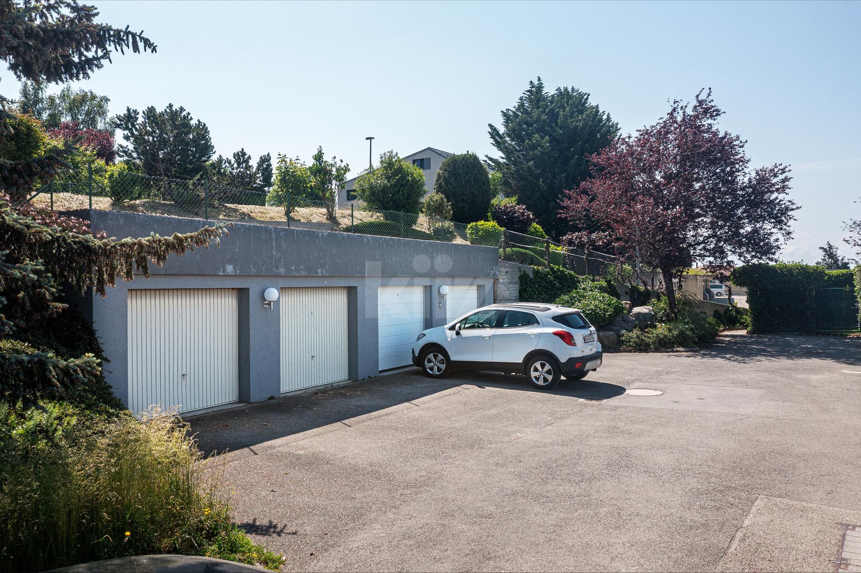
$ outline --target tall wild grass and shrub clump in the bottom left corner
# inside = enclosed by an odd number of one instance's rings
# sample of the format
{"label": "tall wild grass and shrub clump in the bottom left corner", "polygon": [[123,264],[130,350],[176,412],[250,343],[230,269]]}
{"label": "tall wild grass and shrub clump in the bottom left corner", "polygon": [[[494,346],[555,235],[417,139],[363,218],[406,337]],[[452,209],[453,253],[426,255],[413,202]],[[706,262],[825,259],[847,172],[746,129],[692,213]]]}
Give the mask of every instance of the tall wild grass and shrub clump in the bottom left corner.
{"label": "tall wild grass and shrub clump in the bottom left corner", "polygon": [[278,570],[282,558],[232,525],[177,416],[96,416],[62,402],[0,407],[0,570],[41,571],[149,553],[188,553]]}

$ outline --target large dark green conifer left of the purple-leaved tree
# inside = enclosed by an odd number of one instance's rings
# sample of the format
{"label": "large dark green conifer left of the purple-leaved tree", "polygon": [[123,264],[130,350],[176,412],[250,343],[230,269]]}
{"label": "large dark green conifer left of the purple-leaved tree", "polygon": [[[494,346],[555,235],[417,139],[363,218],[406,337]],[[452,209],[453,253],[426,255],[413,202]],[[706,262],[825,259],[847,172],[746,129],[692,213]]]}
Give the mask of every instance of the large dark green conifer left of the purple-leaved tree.
{"label": "large dark green conifer left of the purple-leaved tree", "polygon": [[539,77],[502,112],[502,129],[488,125],[501,157],[487,157],[499,171],[505,196],[517,195],[551,235],[566,225],[557,217],[562,192],[589,176],[592,153],[610,145],[619,126],[576,88],[544,90]]}

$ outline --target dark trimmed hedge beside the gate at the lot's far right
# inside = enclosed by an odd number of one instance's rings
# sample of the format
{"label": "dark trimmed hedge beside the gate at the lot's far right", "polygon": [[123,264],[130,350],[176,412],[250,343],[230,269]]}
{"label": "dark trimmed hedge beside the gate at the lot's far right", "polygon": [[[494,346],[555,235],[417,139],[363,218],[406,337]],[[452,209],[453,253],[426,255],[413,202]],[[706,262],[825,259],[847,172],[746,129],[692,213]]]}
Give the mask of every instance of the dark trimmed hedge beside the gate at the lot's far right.
{"label": "dark trimmed hedge beside the gate at the lot's far right", "polygon": [[[734,269],[730,280],[747,288],[749,332],[813,332],[814,289],[825,286],[824,267],[798,262],[754,263]],[[837,280],[837,279],[832,279]]]}

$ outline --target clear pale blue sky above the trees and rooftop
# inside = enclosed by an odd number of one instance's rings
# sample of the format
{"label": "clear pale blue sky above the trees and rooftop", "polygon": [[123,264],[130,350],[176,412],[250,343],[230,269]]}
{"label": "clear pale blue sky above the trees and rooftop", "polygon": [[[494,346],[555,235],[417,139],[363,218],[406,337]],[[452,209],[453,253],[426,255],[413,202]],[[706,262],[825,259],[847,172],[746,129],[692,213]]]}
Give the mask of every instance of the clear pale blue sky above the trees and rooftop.
{"label": "clear pale blue sky above the trees and rooftop", "polygon": [[[112,110],[173,102],[219,153],[317,145],[365,167],[428,145],[493,154],[530,79],[592,95],[623,132],[711,87],[754,164],[790,163],[795,239],[814,262],[861,218],[861,3],[155,3],[89,0],[156,54],[116,56],[80,83]],[[16,91],[0,72],[3,93]]]}

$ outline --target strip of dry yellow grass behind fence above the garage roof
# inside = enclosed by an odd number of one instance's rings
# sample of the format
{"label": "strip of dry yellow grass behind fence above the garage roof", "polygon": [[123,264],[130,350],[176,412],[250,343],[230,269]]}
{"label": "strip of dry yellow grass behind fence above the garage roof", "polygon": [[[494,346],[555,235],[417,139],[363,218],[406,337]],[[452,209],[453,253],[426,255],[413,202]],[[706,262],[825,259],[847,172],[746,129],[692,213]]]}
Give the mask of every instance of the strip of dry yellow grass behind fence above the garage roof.
{"label": "strip of dry yellow grass behind fence above the garage roof", "polygon": [[[34,197],[33,204],[36,206],[50,206],[51,198],[47,194]],[[76,209],[90,208],[90,198],[87,195],[73,193],[55,193],[53,195],[53,207],[56,211],[73,211]],[[203,218],[203,206],[195,204],[183,206],[173,201],[159,200],[133,200],[115,201],[109,197],[93,197],[93,208],[100,211],[124,211],[127,213],[146,213],[150,215],[170,215],[173,217],[190,217],[194,219]],[[223,219],[230,221],[244,221],[287,225],[287,217],[282,207],[258,206],[258,205],[217,205],[210,206],[206,213],[208,219]],[[362,211],[356,209],[350,213],[350,208],[341,208],[336,212],[338,227],[345,228],[351,224],[365,223],[367,221],[379,221],[382,219],[380,213],[373,211]],[[325,217],[323,207],[297,207],[290,215],[291,221],[300,223],[317,223],[320,226],[331,225]],[[315,226],[315,228],[318,228]],[[418,216],[418,222],[413,225],[418,231],[429,231],[427,218]],[[323,229],[319,229],[323,230]],[[330,226],[331,231],[336,231]],[[461,237],[455,237],[454,243],[466,243]]]}

